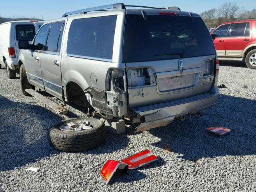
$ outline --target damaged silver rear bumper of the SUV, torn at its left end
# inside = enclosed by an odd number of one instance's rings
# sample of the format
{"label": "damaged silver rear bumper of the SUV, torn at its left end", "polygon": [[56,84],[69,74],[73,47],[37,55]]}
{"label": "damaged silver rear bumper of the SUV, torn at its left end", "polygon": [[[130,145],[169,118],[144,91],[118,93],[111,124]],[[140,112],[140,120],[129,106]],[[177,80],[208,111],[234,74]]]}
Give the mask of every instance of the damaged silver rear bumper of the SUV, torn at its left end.
{"label": "damaged silver rear bumper of the SUV, torn at its left end", "polygon": [[140,116],[144,116],[146,121],[136,128],[136,132],[166,126],[178,116],[200,112],[215,105],[217,101],[218,88],[214,87],[214,93],[206,93],[172,102],[134,108],[133,110],[137,114],[140,114]]}

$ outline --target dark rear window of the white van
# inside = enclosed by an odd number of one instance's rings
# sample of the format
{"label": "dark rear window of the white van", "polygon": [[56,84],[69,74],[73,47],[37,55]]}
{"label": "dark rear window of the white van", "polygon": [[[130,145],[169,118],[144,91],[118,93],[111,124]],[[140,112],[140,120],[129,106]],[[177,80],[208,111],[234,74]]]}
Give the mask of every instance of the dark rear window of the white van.
{"label": "dark rear window of the white van", "polygon": [[16,40],[32,41],[35,36],[34,25],[16,25]]}

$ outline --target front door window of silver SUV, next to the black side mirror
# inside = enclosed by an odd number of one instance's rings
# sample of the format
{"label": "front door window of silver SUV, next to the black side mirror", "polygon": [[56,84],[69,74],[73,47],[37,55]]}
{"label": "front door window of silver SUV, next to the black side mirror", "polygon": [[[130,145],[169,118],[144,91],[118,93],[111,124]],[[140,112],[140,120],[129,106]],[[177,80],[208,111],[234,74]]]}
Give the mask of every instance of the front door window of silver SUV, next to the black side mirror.
{"label": "front door window of silver SUV, next to the black side mirror", "polygon": [[36,46],[36,50],[44,50],[46,44],[46,37],[48,34],[50,24],[43,25],[38,33],[36,34],[34,45]]}

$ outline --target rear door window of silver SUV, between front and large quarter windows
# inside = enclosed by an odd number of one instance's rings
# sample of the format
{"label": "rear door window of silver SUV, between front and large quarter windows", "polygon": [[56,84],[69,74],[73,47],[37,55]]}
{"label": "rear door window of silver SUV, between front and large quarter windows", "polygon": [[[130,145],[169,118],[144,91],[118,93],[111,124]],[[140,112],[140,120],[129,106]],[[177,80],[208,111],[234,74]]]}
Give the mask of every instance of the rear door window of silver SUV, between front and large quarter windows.
{"label": "rear door window of silver SUV, between front and large quarter windows", "polygon": [[56,22],[53,23],[50,32],[47,38],[46,42],[46,51],[53,51],[57,52],[57,47],[58,47],[58,40],[60,36],[60,30],[62,28],[63,22]]}

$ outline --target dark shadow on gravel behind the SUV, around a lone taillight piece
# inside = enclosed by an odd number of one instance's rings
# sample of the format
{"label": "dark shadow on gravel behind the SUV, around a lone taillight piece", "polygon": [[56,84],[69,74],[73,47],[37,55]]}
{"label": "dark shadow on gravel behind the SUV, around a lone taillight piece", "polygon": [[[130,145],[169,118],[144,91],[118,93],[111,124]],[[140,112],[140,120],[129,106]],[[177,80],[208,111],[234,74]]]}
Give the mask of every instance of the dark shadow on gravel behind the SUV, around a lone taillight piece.
{"label": "dark shadow on gravel behind the SUV, around a lone taillight piece", "polygon": [[[167,143],[178,158],[196,161],[201,158],[216,156],[256,155],[256,120],[248,118],[256,113],[256,101],[222,95],[218,104],[204,111],[204,117],[198,119],[187,116],[181,122],[174,120],[163,128],[150,130],[160,142],[152,145],[163,148]],[[206,128],[224,126],[230,134],[216,136],[205,132]]]}

